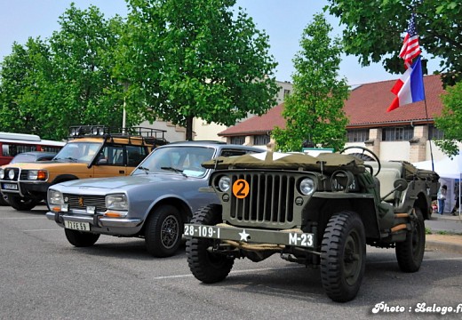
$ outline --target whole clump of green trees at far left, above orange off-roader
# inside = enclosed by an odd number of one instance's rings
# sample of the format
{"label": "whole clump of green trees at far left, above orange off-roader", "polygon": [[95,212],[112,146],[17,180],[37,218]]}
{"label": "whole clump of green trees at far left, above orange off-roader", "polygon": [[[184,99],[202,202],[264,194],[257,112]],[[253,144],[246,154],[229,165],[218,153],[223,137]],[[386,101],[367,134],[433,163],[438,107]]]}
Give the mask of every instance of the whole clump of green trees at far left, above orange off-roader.
{"label": "whole clump of green trees at far left, above orange off-roader", "polygon": [[73,124],[121,127],[123,85],[112,76],[123,21],[71,4],[46,42],[13,44],[0,73],[3,131],[60,140]]}

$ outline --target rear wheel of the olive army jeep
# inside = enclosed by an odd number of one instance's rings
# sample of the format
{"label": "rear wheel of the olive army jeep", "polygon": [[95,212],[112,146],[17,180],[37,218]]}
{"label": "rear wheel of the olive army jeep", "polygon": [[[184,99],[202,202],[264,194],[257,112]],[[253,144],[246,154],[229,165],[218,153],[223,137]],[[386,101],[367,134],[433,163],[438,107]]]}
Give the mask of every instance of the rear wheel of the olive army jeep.
{"label": "rear wheel of the olive army jeep", "polygon": [[420,208],[415,208],[417,220],[411,220],[411,230],[406,240],[396,243],[395,252],[398,265],[403,272],[416,272],[422,264],[425,252],[425,222]]}

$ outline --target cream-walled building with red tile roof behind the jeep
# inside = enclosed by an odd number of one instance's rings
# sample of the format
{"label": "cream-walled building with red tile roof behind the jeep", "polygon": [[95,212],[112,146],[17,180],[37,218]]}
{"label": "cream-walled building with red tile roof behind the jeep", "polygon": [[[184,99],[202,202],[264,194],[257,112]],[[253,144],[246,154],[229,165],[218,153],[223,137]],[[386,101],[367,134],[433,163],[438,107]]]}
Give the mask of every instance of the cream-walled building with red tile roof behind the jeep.
{"label": "cream-walled building with red tile roof behind the jeep", "polygon": [[[347,144],[370,148],[381,160],[406,160],[411,163],[444,157],[433,140],[442,132],[434,127],[434,117],[442,111],[444,93],[440,76],[425,76],[426,101],[415,102],[391,112],[386,108],[394,99],[390,92],[395,80],[362,84],[350,92],[345,102]],[[253,116],[219,132],[229,143],[271,147],[270,134],[275,126],[284,128],[283,103],[263,116]],[[428,116],[427,116],[428,115]]]}

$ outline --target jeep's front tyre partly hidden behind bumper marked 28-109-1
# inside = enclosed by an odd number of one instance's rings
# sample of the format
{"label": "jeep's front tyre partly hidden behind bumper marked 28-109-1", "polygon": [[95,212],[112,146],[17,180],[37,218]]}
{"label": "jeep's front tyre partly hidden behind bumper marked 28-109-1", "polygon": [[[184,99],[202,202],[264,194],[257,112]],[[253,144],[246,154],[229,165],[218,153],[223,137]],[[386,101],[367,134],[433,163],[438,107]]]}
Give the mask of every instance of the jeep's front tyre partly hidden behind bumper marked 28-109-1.
{"label": "jeep's front tyre partly hidden behind bumper marked 28-109-1", "polygon": [[[209,204],[195,212],[191,223],[214,226],[221,222],[220,206]],[[224,254],[211,253],[213,239],[191,237],[186,242],[187,264],[197,280],[213,284],[224,280],[235,263]]]}

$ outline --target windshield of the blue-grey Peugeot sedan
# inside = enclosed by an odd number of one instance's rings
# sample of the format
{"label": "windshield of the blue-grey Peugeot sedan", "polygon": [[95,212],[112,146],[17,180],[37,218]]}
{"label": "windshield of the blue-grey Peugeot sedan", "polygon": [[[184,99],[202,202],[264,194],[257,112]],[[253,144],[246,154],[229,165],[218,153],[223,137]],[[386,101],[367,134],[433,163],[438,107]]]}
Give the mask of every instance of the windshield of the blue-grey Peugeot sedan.
{"label": "windshield of the blue-grey Peugeot sedan", "polygon": [[201,164],[211,160],[213,154],[213,148],[205,147],[156,148],[131,175],[171,172],[201,178],[207,171]]}

